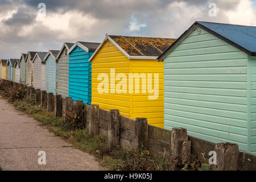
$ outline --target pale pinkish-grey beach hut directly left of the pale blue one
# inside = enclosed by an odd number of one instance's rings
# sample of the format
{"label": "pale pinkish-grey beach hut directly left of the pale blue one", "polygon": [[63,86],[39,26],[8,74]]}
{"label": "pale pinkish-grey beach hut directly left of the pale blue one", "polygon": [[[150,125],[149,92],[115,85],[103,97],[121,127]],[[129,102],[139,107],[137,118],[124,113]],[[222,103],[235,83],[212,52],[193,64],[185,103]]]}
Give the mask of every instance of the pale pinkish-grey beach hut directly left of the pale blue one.
{"label": "pale pinkish-grey beach hut directly left of the pale blue one", "polygon": [[46,63],[44,62],[46,55],[47,52],[37,52],[32,60],[35,89],[46,90]]}

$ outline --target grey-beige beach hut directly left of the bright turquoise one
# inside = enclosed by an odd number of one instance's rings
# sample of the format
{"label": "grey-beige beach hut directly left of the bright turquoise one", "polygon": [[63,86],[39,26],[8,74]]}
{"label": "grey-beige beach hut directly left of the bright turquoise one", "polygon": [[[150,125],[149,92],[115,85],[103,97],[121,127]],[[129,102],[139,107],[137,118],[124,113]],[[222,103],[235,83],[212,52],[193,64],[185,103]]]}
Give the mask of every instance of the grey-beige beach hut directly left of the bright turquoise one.
{"label": "grey-beige beach hut directly left of the bright turquoise one", "polygon": [[60,52],[56,57],[58,61],[57,94],[60,94],[62,97],[68,97],[68,51],[72,46],[73,43],[64,43],[63,47],[60,49]]}

